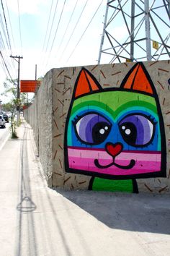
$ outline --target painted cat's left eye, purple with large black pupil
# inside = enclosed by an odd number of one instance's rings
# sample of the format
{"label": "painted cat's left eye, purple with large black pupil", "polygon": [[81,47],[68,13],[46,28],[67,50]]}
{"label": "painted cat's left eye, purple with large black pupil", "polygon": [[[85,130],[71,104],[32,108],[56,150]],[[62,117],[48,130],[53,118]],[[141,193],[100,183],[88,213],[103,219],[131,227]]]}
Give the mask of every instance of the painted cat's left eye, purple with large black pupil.
{"label": "painted cat's left eye, purple with large black pupil", "polygon": [[104,142],[111,129],[110,122],[100,114],[86,114],[80,116],[74,123],[79,140],[89,145]]}

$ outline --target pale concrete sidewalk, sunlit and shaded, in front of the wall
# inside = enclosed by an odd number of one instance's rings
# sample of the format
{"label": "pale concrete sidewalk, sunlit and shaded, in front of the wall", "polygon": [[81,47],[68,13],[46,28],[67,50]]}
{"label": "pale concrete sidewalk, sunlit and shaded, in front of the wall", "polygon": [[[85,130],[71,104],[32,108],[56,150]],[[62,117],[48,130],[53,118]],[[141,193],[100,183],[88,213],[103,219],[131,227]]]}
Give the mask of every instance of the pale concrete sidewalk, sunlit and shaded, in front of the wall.
{"label": "pale concrete sidewalk, sunlit and shaded, in front of the wall", "polygon": [[31,127],[0,150],[1,256],[164,256],[169,195],[47,187]]}

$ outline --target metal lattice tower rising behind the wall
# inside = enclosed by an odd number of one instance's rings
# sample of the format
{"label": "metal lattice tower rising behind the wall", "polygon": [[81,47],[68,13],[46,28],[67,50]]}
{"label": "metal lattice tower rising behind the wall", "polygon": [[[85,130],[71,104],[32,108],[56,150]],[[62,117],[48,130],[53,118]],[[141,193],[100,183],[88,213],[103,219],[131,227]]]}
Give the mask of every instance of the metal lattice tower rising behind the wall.
{"label": "metal lattice tower rising behind the wall", "polygon": [[99,63],[170,57],[170,0],[107,0]]}

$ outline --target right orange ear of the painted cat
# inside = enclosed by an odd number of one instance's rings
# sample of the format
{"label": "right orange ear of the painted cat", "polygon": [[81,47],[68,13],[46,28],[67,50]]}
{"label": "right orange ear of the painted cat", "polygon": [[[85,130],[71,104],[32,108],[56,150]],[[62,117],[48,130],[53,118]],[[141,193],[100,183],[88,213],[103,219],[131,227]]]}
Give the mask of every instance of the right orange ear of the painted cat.
{"label": "right orange ear of the painted cat", "polygon": [[120,87],[130,90],[139,90],[149,94],[153,94],[154,88],[151,78],[142,62],[135,64],[135,66],[130,69],[130,72],[128,72]]}

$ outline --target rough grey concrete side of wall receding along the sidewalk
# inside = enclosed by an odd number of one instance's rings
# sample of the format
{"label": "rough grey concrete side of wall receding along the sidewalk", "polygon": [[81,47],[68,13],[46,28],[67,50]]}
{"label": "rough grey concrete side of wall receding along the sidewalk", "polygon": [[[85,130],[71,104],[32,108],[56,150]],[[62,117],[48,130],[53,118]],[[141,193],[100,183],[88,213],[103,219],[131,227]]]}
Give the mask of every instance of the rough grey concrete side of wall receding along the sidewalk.
{"label": "rough grey concrete side of wall receding along the sidewalk", "polygon": [[27,119],[34,129],[35,143],[38,149],[37,154],[40,155],[40,161],[49,186],[51,186],[51,176],[53,173],[52,101],[52,71],[50,71],[42,81],[42,85],[35,95],[34,103],[29,109],[24,111],[24,118]]}

